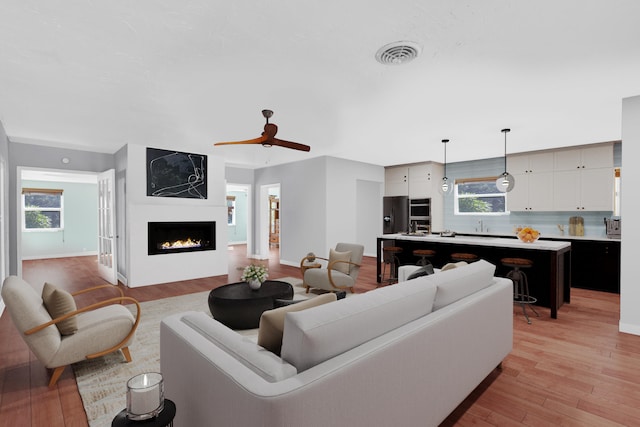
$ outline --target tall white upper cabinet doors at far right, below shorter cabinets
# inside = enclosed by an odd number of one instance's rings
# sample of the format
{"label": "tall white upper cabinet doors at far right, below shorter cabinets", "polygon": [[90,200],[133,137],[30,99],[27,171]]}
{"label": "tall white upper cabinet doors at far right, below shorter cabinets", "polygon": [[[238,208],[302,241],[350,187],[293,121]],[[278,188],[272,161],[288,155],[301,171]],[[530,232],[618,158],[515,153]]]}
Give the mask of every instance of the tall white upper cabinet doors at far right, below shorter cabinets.
{"label": "tall white upper cabinet doors at far right, below shorter cabinets", "polygon": [[557,171],[554,183],[554,210],[613,210],[613,168]]}

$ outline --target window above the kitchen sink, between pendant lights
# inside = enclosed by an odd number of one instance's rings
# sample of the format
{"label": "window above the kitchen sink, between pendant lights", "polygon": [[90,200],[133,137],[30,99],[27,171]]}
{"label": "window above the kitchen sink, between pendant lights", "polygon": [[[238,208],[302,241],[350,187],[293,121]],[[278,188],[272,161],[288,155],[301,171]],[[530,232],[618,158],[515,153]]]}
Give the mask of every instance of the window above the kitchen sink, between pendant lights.
{"label": "window above the kitchen sink, between pendant lights", "polygon": [[455,181],[456,215],[504,215],[507,193],[496,188],[498,177],[465,178]]}

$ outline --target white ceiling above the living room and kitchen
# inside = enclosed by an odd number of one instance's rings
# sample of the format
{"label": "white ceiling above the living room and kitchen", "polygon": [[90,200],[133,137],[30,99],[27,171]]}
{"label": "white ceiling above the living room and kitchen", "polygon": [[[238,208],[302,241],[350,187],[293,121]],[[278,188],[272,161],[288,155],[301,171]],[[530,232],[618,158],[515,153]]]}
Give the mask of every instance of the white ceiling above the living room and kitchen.
{"label": "white ceiling above the living room and kitchen", "polygon": [[[640,94],[637,0],[2,0],[0,121],[14,142],[210,150],[228,164],[378,165],[621,137]],[[376,62],[408,40],[421,55]]]}

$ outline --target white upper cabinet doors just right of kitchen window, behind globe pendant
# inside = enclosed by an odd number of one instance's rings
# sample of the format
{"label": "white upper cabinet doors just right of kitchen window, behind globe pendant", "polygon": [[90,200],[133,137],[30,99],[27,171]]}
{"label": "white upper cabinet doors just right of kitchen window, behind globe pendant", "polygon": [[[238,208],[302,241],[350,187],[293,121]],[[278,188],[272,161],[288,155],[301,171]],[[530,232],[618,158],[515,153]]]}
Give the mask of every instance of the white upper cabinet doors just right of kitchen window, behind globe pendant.
{"label": "white upper cabinet doors just right of kitchen window, behind globe pendant", "polygon": [[513,190],[507,193],[510,211],[545,212],[553,210],[553,172],[513,175]]}

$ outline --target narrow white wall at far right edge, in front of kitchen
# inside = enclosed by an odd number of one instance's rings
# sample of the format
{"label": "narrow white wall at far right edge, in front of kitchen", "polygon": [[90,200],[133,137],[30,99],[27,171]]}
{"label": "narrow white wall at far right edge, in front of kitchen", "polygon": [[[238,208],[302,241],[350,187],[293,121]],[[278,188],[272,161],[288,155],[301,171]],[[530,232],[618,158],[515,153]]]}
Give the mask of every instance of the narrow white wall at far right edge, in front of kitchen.
{"label": "narrow white wall at far right edge, in front of kitchen", "polygon": [[626,188],[627,203],[621,198],[620,212],[624,219],[621,241],[620,324],[621,332],[640,335],[640,286],[638,286],[637,242],[640,239],[640,204],[634,200],[640,188],[640,96],[622,100],[622,170],[621,193]]}

